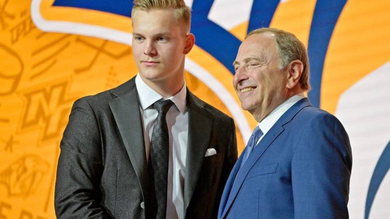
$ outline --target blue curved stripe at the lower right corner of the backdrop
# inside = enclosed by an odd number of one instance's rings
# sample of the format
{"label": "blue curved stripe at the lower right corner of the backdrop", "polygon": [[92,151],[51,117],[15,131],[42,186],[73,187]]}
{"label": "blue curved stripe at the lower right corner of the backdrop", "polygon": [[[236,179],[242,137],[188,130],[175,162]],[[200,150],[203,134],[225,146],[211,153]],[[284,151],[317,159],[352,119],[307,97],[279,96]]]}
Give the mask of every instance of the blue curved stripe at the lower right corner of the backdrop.
{"label": "blue curved stripe at the lower right corner of the backdrop", "polygon": [[374,173],[371,177],[370,186],[368,187],[366,208],[364,211],[364,219],[368,219],[370,215],[372,202],[374,201],[375,195],[378,192],[379,185],[381,185],[386,173],[390,168],[390,142],[383,150],[381,157],[378,160],[377,166],[374,169]]}

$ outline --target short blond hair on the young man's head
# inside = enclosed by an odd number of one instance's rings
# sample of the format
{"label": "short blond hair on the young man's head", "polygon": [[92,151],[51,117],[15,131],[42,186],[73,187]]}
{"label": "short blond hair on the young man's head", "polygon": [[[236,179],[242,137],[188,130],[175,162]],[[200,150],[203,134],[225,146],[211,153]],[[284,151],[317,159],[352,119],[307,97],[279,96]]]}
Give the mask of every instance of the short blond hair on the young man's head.
{"label": "short blond hair on the young man's head", "polygon": [[174,9],[173,16],[177,21],[183,21],[191,28],[191,9],[184,0],[134,0],[131,17],[135,10],[148,11],[153,8]]}

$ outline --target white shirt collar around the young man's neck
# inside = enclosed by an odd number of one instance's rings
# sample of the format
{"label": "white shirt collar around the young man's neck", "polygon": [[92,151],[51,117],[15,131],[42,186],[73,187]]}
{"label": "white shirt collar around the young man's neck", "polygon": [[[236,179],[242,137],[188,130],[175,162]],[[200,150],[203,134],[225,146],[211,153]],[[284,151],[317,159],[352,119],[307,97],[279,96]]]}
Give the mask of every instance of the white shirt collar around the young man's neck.
{"label": "white shirt collar around the young man's neck", "polygon": [[[137,87],[138,97],[140,99],[140,104],[143,110],[146,110],[146,108],[150,107],[152,104],[154,104],[154,102],[163,98],[159,93],[157,93],[155,90],[147,86],[147,84],[141,78],[139,73],[136,76],[136,87]],[[184,110],[186,108],[186,103],[187,103],[186,97],[187,97],[187,89],[186,89],[186,81],[184,81],[184,85],[182,89],[177,94],[169,98],[163,98],[163,99],[171,100],[179,109],[179,111],[181,113],[184,113]]]}

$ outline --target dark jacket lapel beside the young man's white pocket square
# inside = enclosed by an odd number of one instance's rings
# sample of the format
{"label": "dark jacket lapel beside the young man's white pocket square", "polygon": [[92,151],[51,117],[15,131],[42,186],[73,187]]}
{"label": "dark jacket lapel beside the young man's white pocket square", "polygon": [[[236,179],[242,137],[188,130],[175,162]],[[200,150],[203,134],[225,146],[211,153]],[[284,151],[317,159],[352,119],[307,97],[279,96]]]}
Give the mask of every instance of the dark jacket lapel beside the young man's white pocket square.
{"label": "dark jacket lapel beside the young man's white pocket square", "polygon": [[204,154],[208,148],[213,118],[187,90],[188,109],[188,146],[186,158],[186,175],[184,186],[184,215],[193,196]]}

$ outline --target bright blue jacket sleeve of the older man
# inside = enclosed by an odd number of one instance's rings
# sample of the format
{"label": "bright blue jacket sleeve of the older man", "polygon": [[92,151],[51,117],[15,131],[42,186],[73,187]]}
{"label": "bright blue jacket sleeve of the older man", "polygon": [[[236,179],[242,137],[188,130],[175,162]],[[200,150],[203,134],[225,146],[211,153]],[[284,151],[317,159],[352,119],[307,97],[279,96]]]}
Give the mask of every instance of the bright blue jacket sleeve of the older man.
{"label": "bright blue jacket sleeve of the older man", "polygon": [[348,218],[352,153],[340,121],[320,114],[308,122],[293,154],[294,218]]}

